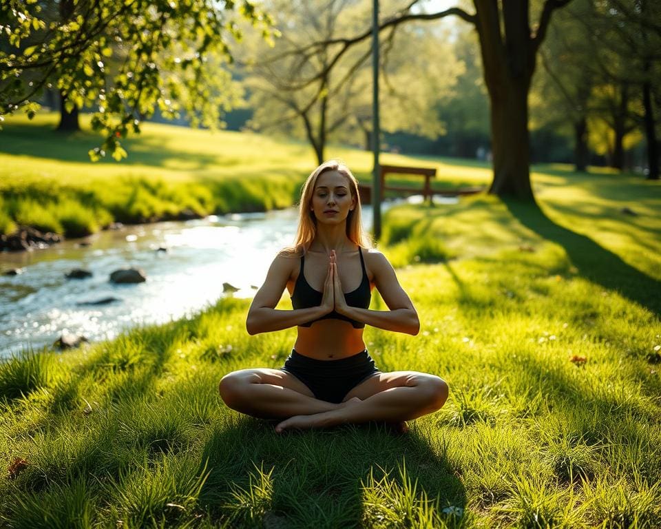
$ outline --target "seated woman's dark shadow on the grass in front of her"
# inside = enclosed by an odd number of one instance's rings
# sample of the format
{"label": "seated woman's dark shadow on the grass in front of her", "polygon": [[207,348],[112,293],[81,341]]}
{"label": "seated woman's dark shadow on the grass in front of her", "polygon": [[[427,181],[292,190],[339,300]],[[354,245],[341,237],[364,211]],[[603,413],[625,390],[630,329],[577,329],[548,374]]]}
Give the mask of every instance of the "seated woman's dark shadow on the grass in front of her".
{"label": "seated woman's dark shadow on the grass in front of her", "polygon": [[415,500],[423,492],[430,501],[438,497],[439,510],[463,508],[466,501],[443,451],[432,450],[415,428],[406,435],[375,424],[278,435],[270,422],[240,417],[216,426],[202,461],[208,461],[209,477],[200,504],[214,519],[237,526],[364,526],[380,507],[401,508],[388,486],[375,487],[384,492],[384,505],[366,500],[364,488],[384,477],[395,488],[416,484],[409,494]]}

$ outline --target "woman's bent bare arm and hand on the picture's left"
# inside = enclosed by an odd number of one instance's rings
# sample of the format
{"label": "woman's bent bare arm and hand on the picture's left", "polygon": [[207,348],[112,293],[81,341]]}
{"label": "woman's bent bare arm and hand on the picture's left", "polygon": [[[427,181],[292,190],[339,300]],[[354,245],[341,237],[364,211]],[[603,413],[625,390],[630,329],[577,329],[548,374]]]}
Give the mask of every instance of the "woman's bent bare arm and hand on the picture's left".
{"label": "woman's bent bare arm and hand on the picture's left", "polygon": [[248,334],[253,335],[288,329],[289,327],[316,320],[333,311],[333,275],[330,269],[330,262],[328,263],[326,283],[324,283],[324,297],[319,307],[295,309],[292,311],[275,309],[275,305],[280,301],[282,291],[286,287],[290,274],[291,259],[284,256],[277,256],[273,260],[273,263],[271,263],[262,288],[257,291],[250,309],[248,309],[248,317],[246,318],[246,331],[248,331]]}

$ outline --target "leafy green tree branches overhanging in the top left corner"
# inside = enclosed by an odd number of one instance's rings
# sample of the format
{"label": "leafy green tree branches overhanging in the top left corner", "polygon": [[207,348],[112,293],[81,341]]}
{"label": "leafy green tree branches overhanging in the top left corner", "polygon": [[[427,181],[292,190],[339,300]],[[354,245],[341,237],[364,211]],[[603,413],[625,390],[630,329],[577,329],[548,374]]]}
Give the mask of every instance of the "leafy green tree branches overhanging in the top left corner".
{"label": "leafy green tree branches overhanging in the top left corner", "polygon": [[[54,5],[60,17],[47,16]],[[156,107],[213,126],[232,97],[218,67],[220,57],[231,61],[229,39],[241,37],[237,18],[268,31],[269,17],[246,0],[3,2],[0,121],[19,109],[34,116],[36,98],[53,86],[68,112],[96,109],[92,127],[105,139],[93,160],[126,156],[120,138],[140,132]]]}

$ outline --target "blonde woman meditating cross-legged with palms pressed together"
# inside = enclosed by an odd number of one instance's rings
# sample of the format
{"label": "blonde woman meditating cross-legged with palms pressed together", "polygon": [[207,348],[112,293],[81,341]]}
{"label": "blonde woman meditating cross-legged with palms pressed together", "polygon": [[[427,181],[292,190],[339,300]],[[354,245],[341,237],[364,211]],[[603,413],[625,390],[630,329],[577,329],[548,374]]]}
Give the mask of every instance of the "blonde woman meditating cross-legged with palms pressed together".
{"label": "blonde woman meditating cross-legged with palms pressed together", "polygon": [[[405,421],[436,411],[448,397],[439,377],[415,371],[381,373],[363,341],[366,324],[416,335],[420,324],[395,271],[368,249],[355,177],[330,160],[302,190],[295,246],[273,260],[248,311],[249,334],[297,326],[282,369],[242,369],[225,375],[220,395],[233,410],[282,418],[275,431],[343,423]],[[277,310],[288,289],[293,310]],[[388,311],[373,311],[376,287]]]}

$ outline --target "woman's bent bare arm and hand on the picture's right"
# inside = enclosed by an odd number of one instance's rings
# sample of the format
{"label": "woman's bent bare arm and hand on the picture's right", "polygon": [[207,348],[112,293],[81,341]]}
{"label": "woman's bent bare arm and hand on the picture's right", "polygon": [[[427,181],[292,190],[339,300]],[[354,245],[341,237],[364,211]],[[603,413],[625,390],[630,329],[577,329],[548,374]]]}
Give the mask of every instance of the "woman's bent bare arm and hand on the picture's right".
{"label": "woman's bent bare arm and hand on the picture's right", "polygon": [[375,253],[375,259],[370,267],[374,273],[374,282],[377,290],[388,305],[388,311],[373,311],[370,309],[359,309],[349,307],[344,300],[342,284],[339,282],[337,263],[333,261],[333,288],[335,290],[335,311],[344,314],[352,320],[364,322],[365,324],[386,331],[396,333],[407,333],[417,335],[420,331],[418,313],[413,304],[401,288],[395,270],[383,253]]}

